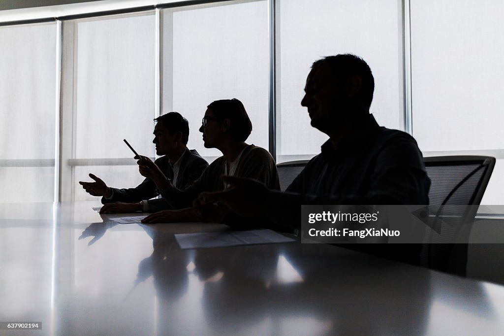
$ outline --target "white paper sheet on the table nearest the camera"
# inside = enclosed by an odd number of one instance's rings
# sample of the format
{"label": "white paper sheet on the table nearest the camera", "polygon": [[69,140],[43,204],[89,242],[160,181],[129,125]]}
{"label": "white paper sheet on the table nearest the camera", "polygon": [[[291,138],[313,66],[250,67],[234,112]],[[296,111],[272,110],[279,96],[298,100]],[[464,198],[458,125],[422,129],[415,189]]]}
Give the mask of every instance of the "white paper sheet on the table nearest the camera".
{"label": "white paper sheet on the table nearest the camera", "polygon": [[175,239],[182,250],[295,241],[272,230],[176,234]]}

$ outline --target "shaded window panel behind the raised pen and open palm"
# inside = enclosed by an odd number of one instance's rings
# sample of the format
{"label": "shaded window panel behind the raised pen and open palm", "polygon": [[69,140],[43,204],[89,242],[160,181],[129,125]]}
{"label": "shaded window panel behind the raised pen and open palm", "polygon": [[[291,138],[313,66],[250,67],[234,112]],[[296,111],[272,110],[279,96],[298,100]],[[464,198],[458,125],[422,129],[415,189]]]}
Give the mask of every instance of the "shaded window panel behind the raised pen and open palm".
{"label": "shaded window panel behind the raised pen and open palm", "polygon": [[135,187],[143,177],[122,139],[154,157],[154,13],[74,20],[63,29],[64,52],[75,54],[64,59],[73,76],[64,84],[62,173],[77,189],[62,199],[96,199],[78,185],[91,181],[88,173],[111,187]]}

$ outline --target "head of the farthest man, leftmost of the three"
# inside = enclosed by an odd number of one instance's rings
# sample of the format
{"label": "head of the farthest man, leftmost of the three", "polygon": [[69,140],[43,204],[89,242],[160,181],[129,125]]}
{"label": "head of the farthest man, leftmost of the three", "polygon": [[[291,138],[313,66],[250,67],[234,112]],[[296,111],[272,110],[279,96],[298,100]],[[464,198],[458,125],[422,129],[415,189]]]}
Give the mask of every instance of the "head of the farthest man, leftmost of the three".
{"label": "head of the farthest man, leftmost of the three", "polygon": [[189,139],[189,123],[177,112],[169,112],[154,121],[154,140],[156,144],[156,154],[170,155],[185,148]]}

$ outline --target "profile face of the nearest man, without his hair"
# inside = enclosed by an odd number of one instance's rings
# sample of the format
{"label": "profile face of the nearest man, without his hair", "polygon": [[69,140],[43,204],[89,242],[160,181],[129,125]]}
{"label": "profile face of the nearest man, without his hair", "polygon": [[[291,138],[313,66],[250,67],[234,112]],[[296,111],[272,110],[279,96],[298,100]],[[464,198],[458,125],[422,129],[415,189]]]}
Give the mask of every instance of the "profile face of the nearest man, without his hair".
{"label": "profile face of the nearest man, without his hair", "polygon": [[324,64],[311,69],[306,78],[301,105],[308,109],[311,126],[328,133],[335,129],[344,117],[345,97],[330,70]]}

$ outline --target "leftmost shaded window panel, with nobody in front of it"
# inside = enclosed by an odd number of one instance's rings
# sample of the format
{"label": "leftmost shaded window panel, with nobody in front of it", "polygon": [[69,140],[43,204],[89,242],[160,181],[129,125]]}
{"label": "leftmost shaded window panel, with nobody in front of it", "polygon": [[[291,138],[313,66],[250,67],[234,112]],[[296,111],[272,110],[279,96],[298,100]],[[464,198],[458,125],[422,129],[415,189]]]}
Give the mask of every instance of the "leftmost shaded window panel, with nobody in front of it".
{"label": "leftmost shaded window panel, with nobody in front of it", "polygon": [[56,24],[0,27],[0,202],[52,202]]}

